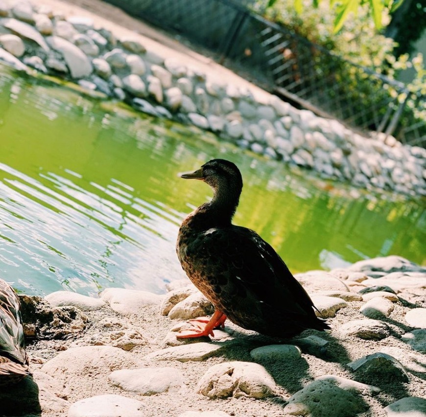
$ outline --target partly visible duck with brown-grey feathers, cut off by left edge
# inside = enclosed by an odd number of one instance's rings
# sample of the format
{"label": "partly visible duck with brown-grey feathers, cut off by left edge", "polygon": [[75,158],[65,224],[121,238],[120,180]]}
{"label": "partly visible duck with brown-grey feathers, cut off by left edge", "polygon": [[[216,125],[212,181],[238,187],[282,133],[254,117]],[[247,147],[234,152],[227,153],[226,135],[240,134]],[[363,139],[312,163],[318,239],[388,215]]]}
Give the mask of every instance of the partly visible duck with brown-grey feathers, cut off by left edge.
{"label": "partly visible duck with brown-grey feathers, cut off by left edge", "polygon": [[0,279],[0,386],[14,384],[29,374],[19,298]]}

